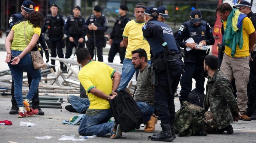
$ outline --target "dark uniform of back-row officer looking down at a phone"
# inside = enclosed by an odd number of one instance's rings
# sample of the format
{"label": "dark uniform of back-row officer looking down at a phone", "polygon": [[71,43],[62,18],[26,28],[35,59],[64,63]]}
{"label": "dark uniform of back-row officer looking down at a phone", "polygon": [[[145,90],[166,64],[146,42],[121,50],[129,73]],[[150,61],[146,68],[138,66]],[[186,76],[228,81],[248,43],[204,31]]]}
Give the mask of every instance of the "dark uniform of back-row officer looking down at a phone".
{"label": "dark uniform of back-row officer looking down at a phone", "polygon": [[[97,30],[89,30],[88,25],[94,23],[97,26]],[[94,40],[93,40],[93,31],[95,31],[95,39],[96,39],[96,47],[97,47],[97,57],[98,61],[103,61],[103,42],[105,42],[104,32],[106,32],[109,28],[109,23],[106,17],[102,14],[99,18],[97,18],[94,14],[90,15],[90,17],[85,21],[83,28],[88,30],[88,50],[90,52],[90,56],[93,59],[94,57]]]}

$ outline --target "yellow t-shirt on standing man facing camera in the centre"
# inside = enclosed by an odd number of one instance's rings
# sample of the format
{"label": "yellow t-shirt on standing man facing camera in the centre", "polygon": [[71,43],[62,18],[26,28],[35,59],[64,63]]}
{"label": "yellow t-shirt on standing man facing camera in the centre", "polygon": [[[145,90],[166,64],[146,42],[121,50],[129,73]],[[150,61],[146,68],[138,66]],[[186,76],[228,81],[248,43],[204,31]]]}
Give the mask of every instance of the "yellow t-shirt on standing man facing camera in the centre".
{"label": "yellow t-shirt on standing man facing camera in the centre", "polygon": [[142,48],[147,52],[147,60],[150,60],[150,46],[143,37],[142,26],[145,22],[129,21],[123,32],[123,37],[128,38],[128,46],[126,48],[125,58],[132,59],[132,51]]}

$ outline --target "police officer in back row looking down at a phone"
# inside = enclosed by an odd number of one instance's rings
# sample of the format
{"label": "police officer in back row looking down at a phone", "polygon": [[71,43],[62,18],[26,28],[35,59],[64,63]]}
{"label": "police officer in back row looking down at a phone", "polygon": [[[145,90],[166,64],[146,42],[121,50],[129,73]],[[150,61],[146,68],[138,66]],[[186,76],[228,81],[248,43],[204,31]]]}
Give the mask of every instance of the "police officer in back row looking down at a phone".
{"label": "police officer in back row looking down at a phone", "polygon": [[[109,28],[109,22],[106,17],[101,14],[101,7],[99,5],[95,5],[93,8],[93,13],[84,23],[83,28],[89,31],[88,38],[88,50],[90,52],[90,56],[93,59],[94,57],[94,48],[97,47],[97,57],[98,61],[103,61],[103,42],[105,40],[104,32],[106,32]],[[95,43],[94,45],[94,37]]]}

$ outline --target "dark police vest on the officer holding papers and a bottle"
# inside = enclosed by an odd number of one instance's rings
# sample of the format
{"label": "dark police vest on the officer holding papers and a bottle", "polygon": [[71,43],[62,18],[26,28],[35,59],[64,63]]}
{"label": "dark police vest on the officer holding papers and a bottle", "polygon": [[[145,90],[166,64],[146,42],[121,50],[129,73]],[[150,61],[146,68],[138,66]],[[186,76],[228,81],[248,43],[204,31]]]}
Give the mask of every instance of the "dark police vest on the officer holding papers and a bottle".
{"label": "dark police vest on the officer holding papers and a bottle", "polygon": [[184,41],[186,41],[188,38],[193,38],[194,42],[199,44],[202,40],[206,40],[206,25],[207,22],[202,20],[202,23],[199,27],[193,27],[191,24],[191,21],[185,22],[188,28],[187,37],[184,38]]}

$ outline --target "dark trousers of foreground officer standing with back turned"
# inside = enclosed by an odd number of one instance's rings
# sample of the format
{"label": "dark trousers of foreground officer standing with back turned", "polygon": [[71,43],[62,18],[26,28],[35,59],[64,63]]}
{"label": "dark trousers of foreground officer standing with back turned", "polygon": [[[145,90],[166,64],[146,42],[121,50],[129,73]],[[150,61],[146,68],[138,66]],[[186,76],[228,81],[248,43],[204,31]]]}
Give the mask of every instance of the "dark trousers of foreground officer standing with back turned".
{"label": "dark trousers of foreground officer standing with back turned", "polygon": [[[177,59],[176,60],[181,60]],[[169,84],[167,80],[167,73],[162,72],[158,74],[158,86],[155,86],[155,106],[159,111],[159,118],[162,124],[174,124],[175,121],[175,105],[174,94],[180,81],[183,66],[169,63],[169,73],[172,87],[172,94],[169,92]]]}

